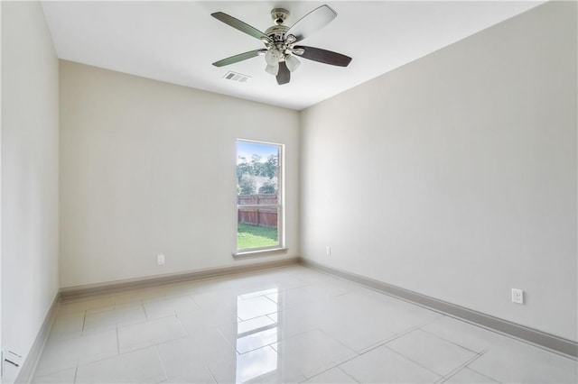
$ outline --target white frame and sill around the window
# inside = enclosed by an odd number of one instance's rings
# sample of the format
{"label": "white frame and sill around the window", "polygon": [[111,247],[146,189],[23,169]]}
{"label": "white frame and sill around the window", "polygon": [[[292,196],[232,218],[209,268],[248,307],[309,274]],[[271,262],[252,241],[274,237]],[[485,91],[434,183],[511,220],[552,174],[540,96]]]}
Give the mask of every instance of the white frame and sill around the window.
{"label": "white frame and sill around the window", "polygon": [[[233,253],[234,257],[243,257],[243,256],[254,256],[259,254],[268,254],[268,253],[278,253],[280,251],[287,251],[285,248],[285,231],[284,231],[284,217],[285,217],[285,194],[284,194],[284,157],[285,157],[285,146],[284,144],[278,142],[262,142],[257,140],[250,140],[250,139],[240,139],[238,138],[235,142],[235,155],[236,161],[235,165],[237,166],[237,147],[238,142],[253,142],[256,144],[265,144],[265,145],[275,145],[279,149],[278,159],[277,159],[277,167],[278,167],[278,174],[277,174],[277,204],[266,204],[266,205],[238,205],[237,204],[237,194],[235,194],[235,201],[236,201],[236,217],[238,217],[238,209],[240,207],[243,208],[276,208],[277,210],[277,239],[278,244],[271,245],[268,247],[258,247],[258,248],[245,248],[239,250],[238,247],[238,221],[236,225],[235,231],[235,249],[236,252]],[[237,178],[237,167],[235,168],[235,178]]]}

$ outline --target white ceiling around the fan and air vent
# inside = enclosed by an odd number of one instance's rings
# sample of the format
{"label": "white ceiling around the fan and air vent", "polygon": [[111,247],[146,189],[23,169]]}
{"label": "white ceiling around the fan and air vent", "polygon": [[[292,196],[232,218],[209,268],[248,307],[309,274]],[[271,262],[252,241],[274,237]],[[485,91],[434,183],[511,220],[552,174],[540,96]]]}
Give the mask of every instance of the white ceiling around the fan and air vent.
{"label": "white ceiling around the fan and air vent", "polygon": [[[44,2],[60,59],[154,78],[186,87],[301,110],[407,62],[439,50],[544,1],[258,1],[258,2]],[[271,9],[283,7],[292,25],[314,8],[330,5],[338,16],[303,40],[353,58],[347,68],[301,59],[291,82],[278,86],[265,59],[211,65],[261,41],[210,16],[221,11],[264,32]],[[232,70],[247,84],[223,77]]]}

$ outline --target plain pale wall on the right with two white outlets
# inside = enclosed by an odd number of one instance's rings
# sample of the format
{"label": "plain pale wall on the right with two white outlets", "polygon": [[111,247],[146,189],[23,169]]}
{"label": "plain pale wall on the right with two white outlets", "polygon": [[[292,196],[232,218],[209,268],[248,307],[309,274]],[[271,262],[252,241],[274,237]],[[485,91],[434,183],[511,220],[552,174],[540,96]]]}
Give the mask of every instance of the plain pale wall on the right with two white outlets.
{"label": "plain pale wall on the right with two white outlets", "polygon": [[303,256],[576,341],[576,80],[553,2],[303,111]]}

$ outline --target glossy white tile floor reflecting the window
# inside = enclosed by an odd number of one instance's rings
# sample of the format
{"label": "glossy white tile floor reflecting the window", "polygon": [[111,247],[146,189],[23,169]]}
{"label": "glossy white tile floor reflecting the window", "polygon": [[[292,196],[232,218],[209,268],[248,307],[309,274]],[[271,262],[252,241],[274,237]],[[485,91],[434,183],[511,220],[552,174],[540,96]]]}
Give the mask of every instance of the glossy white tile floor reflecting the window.
{"label": "glossy white tile floor reflecting the window", "polygon": [[34,383],[563,383],[578,363],[302,266],[61,304]]}

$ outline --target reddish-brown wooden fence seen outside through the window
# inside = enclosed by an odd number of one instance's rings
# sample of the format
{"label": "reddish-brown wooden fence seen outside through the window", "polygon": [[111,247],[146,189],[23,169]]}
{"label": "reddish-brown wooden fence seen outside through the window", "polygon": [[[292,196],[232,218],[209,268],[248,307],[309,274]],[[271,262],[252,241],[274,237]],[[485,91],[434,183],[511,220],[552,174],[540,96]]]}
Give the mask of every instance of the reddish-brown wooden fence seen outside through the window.
{"label": "reddish-brown wooden fence seen outside through the window", "polygon": [[[240,195],[237,197],[238,223],[277,227],[277,208],[256,208],[258,205],[277,204],[277,195]],[[251,207],[242,207],[251,206]]]}

